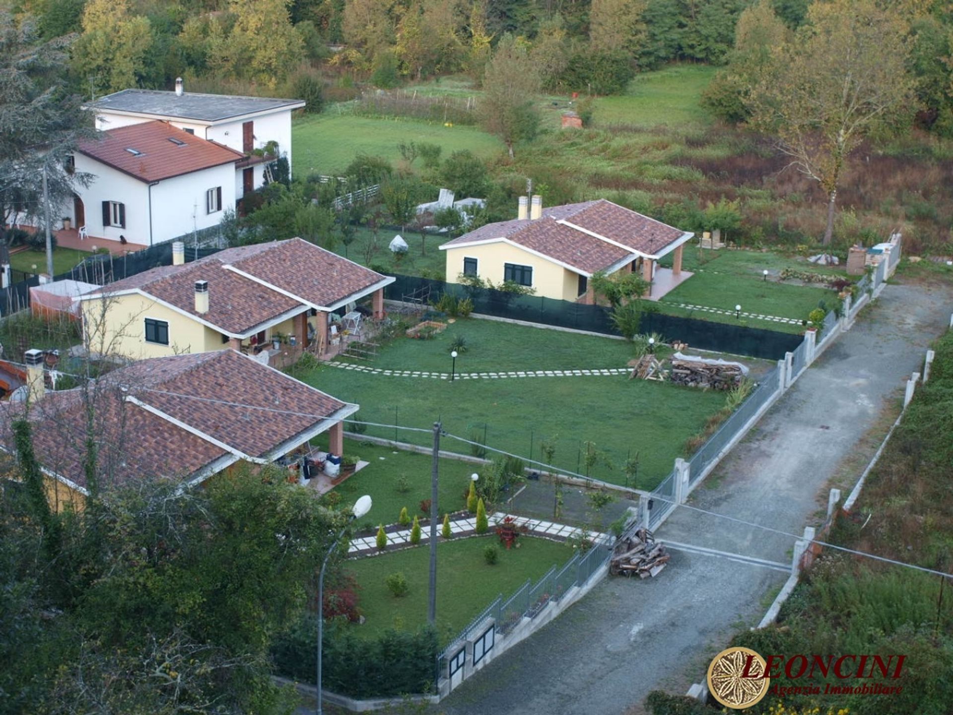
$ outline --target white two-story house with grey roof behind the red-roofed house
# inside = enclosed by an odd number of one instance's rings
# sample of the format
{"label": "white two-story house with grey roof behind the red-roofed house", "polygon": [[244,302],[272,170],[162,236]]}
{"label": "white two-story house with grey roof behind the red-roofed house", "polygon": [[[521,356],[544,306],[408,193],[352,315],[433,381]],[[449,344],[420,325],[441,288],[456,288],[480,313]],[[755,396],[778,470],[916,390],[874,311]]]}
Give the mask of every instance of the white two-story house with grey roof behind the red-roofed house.
{"label": "white two-story house with grey roof behind the red-roofed house", "polygon": [[[159,120],[242,153],[234,165],[238,200],[262,185],[265,165],[277,156],[286,156],[291,165],[292,112],[304,106],[300,99],[185,92],[177,79],[174,92],[123,90],[97,99],[88,109],[95,112],[96,129],[104,132]],[[271,142],[277,144],[277,155],[254,153]]]}

